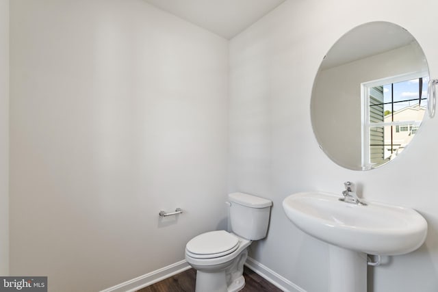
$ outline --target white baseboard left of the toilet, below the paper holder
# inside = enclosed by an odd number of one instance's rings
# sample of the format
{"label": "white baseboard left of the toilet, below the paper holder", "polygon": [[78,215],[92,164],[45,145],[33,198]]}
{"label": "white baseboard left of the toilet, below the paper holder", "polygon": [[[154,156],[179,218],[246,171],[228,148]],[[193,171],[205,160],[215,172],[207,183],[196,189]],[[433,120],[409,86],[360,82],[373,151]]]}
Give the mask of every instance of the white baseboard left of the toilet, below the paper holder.
{"label": "white baseboard left of the toilet, below the paper holder", "polygon": [[187,261],[179,261],[178,263],[168,265],[167,267],[162,267],[161,269],[151,271],[151,273],[144,274],[143,276],[128,280],[121,284],[117,284],[116,286],[102,290],[101,292],[134,292],[166,278],[172,277],[190,268],[191,267]]}

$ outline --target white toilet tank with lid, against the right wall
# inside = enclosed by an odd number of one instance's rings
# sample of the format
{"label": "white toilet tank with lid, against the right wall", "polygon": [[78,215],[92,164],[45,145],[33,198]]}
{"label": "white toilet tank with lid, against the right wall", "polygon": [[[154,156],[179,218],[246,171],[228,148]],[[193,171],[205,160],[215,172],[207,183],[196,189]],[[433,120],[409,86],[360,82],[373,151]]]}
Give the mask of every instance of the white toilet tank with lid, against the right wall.
{"label": "white toilet tank with lid, against the right wall", "polygon": [[266,237],[272,201],[244,193],[228,195],[231,230],[249,240]]}

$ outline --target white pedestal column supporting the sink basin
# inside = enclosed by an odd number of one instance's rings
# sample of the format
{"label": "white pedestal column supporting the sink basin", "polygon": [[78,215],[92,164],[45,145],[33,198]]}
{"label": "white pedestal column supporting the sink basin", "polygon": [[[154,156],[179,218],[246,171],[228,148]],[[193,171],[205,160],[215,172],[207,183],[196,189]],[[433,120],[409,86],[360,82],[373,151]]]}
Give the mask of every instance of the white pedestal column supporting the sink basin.
{"label": "white pedestal column supporting the sink basin", "polygon": [[330,291],[367,292],[367,254],[329,246]]}

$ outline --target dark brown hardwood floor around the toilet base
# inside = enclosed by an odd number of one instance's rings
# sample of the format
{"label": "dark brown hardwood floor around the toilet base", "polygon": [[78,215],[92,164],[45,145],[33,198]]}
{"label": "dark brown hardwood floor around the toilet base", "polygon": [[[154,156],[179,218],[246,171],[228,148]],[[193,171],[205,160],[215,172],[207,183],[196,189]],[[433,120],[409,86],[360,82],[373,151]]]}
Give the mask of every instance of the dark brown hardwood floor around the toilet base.
{"label": "dark brown hardwood floor around the toilet base", "polygon": [[[254,271],[244,267],[245,287],[242,292],[281,292]],[[173,277],[157,282],[149,287],[138,290],[138,292],[193,292],[196,280],[196,271],[188,269]],[[208,291],[205,291],[208,292]]]}

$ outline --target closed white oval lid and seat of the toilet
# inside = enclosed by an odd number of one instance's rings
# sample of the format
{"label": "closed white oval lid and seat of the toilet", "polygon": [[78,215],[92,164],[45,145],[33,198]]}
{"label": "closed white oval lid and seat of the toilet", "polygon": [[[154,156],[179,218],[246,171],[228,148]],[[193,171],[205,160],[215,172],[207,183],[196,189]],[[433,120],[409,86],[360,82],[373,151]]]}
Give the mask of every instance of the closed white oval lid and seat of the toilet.
{"label": "closed white oval lid and seat of the toilet", "polygon": [[192,258],[218,258],[239,248],[239,239],[225,230],[211,231],[194,237],[185,246]]}

